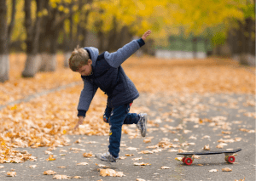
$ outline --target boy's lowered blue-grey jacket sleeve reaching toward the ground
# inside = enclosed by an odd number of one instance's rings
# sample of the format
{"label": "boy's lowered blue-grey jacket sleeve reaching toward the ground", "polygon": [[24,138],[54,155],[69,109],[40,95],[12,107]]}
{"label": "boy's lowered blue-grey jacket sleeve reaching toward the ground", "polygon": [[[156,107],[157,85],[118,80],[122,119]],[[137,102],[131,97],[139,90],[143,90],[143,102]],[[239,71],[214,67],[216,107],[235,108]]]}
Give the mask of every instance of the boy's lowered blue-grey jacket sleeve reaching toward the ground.
{"label": "boy's lowered blue-grey jacket sleeve reaching toward the ground", "polygon": [[84,88],[81,91],[79,98],[78,116],[85,116],[86,111],[89,109],[91,100],[93,99],[98,87],[90,83],[88,80],[83,79]]}

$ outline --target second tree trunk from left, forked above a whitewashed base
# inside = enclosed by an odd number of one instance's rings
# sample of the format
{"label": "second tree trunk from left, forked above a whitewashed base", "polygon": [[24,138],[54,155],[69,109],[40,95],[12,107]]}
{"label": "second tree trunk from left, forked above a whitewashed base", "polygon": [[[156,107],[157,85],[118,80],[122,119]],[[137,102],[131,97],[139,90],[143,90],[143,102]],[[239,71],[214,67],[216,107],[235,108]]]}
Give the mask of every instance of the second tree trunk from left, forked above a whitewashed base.
{"label": "second tree trunk from left, forked above a whitewashed base", "polygon": [[[37,12],[42,9],[43,0],[37,0]],[[25,69],[22,71],[23,77],[33,77],[38,72],[40,65],[40,55],[38,54],[38,44],[41,26],[41,17],[38,17],[32,23],[32,0],[25,0],[25,27],[26,27],[26,64]]]}

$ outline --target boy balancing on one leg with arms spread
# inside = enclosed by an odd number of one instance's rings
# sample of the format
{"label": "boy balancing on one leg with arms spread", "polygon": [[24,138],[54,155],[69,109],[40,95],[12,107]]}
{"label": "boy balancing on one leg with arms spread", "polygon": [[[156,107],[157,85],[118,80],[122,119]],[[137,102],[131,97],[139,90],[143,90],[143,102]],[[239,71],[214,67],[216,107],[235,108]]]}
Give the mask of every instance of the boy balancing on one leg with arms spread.
{"label": "boy balancing on one leg with arms spread", "polygon": [[146,31],[142,38],[129,42],[112,54],[108,52],[99,54],[97,48],[78,47],[69,59],[71,70],[79,72],[84,81],[84,89],[78,105],[79,122],[74,129],[84,122],[86,111],[97,88],[101,88],[108,95],[108,103],[103,115],[103,121],[110,125],[108,152],[96,155],[102,161],[116,162],[119,158],[123,124],[137,124],[142,136],[146,135],[147,114],[129,113],[131,104],[134,99],[137,99],[139,93],[129,77],[125,75],[121,64],[145,44],[144,41],[150,33],[151,31]]}

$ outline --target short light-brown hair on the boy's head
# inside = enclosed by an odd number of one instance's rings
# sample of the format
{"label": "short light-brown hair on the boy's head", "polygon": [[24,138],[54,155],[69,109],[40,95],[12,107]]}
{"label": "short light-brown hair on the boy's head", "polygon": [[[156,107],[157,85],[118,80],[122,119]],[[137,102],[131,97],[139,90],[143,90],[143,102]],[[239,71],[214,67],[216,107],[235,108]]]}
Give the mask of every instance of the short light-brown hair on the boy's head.
{"label": "short light-brown hair on the boy's head", "polygon": [[90,59],[88,52],[84,48],[79,48],[78,45],[68,59],[69,68],[72,71],[79,71],[81,66],[88,64],[88,59]]}

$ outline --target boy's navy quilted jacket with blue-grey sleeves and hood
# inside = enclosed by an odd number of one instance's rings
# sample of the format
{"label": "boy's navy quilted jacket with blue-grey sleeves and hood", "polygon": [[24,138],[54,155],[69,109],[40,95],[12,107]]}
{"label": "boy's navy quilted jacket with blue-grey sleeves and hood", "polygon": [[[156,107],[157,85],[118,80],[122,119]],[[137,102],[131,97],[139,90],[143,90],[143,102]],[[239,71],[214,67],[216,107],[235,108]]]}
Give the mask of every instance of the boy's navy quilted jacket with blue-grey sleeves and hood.
{"label": "boy's navy quilted jacket with blue-grey sleeves and hood", "polygon": [[137,88],[125,75],[121,64],[144,44],[142,38],[133,40],[112,54],[107,51],[99,54],[99,50],[93,47],[84,48],[92,60],[92,74],[81,76],[84,81],[84,88],[80,94],[78,116],[85,116],[98,88],[101,88],[108,95],[107,105],[111,108],[131,103],[137,99],[139,96]]}

